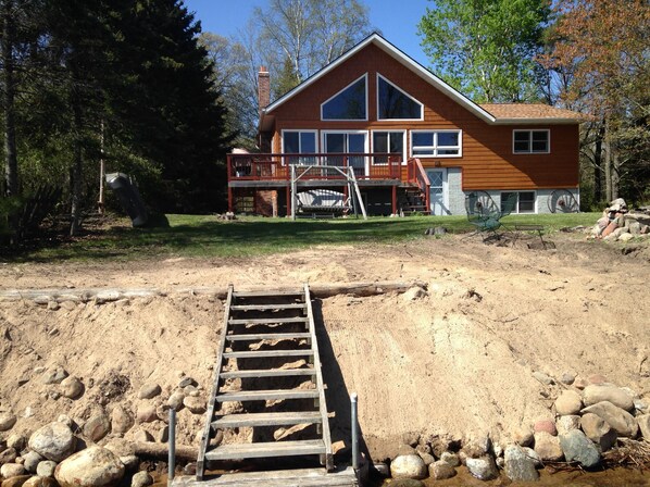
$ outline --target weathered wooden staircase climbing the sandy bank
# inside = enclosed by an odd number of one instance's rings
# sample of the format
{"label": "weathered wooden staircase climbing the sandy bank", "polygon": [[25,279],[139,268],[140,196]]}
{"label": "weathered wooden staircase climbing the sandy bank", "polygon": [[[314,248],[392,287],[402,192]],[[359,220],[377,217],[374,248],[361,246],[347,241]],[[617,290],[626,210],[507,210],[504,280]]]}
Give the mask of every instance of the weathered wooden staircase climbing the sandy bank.
{"label": "weathered wooden staircase climbing the sandy bank", "polygon": [[[211,463],[227,460],[317,455],[333,470],[308,285],[275,291],[229,286],[214,371],[197,480]],[[211,445],[217,430],[241,428],[252,428],[251,442]]]}

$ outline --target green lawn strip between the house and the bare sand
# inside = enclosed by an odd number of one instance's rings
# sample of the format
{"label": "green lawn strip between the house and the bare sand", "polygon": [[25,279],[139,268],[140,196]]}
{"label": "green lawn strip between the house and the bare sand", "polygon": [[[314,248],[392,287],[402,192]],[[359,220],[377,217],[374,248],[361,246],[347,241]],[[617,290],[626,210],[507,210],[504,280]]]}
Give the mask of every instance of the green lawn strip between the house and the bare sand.
{"label": "green lawn strip between the house and the bare sand", "polygon": [[[562,227],[592,225],[599,213],[510,215],[508,226],[543,225],[547,233]],[[147,259],[164,257],[250,257],[303,249],[318,245],[395,244],[425,237],[429,227],[450,233],[474,229],[466,216],[409,216],[336,220],[240,217],[225,222],[211,215],[167,215],[166,228],[130,228],[129,221],[100,226],[87,236],[37,248],[14,255],[18,261],[89,259]]]}

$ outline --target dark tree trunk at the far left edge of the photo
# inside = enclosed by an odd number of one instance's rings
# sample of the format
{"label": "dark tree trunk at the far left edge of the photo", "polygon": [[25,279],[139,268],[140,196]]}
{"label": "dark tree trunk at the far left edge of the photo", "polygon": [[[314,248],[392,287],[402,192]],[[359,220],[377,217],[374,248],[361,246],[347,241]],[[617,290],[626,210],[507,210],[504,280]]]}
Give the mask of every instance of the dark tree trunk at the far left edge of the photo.
{"label": "dark tree trunk at the far left edge of the photo", "polygon": [[16,152],[16,127],[15,127],[15,78],[13,42],[15,39],[15,25],[12,11],[13,1],[2,2],[2,63],[4,85],[4,157],[5,157],[5,195],[18,195],[18,162]]}

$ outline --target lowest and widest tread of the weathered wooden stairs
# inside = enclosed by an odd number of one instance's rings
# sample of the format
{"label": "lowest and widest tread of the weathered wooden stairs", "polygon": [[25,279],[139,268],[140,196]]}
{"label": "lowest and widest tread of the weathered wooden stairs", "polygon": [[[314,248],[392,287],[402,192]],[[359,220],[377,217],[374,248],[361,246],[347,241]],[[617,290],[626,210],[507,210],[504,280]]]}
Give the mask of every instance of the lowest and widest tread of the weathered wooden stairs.
{"label": "lowest and widest tread of the weathered wooden stairs", "polygon": [[263,444],[230,444],[216,447],[205,452],[207,460],[258,459],[264,457],[293,457],[303,454],[323,454],[325,444],[322,439],[299,441],[271,441]]}

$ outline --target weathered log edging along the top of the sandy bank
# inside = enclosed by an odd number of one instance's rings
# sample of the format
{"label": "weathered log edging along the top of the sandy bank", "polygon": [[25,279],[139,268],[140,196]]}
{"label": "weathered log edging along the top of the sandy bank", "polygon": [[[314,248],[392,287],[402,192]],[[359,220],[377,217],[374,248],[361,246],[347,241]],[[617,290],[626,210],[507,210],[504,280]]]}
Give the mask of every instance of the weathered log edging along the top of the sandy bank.
{"label": "weathered log edging along the top of the sandy bank", "polygon": [[[355,297],[384,295],[387,292],[405,292],[413,286],[426,288],[422,280],[376,280],[358,283],[333,283],[333,284],[310,284],[312,296],[316,298],[330,298],[337,295],[350,295]],[[267,291],[271,286],[247,288],[239,290]],[[283,287],[276,289],[284,289]],[[288,289],[288,287],[286,288]],[[87,289],[7,289],[0,290],[0,301],[23,301],[29,300],[38,304],[48,302],[90,302],[98,304],[121,299],[164,297],[170,295],[190,296],[213,296],[217,299],[225,299],[226,288],[217,287],[179,287],[168,290],[158,288],[87,288]]]}

